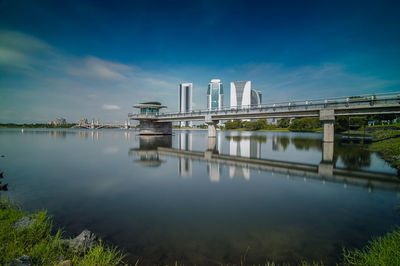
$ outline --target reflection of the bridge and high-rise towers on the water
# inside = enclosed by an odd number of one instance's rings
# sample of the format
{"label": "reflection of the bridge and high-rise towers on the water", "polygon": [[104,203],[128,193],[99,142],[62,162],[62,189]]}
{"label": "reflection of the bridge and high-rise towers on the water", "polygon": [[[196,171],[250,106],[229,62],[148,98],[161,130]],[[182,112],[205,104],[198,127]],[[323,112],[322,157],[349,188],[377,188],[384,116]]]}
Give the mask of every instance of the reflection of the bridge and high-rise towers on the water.
{"label": "reflection of the bridge and high-rise towers on the water", "polygon": [[[273,148],[282,149],[286,138],[277,141],[274,136]],[[229,141],[229,155],[220,153],[221,138],[208,138],[208,149],[204,152],[192,151],[191,134],[187,132],[178,135],[178,149],[172,148],[171,136],[146,136],[140,137],[140,148],[131,149],[130,154],[139,156],[136,162],[146,166],[161,165],[164,156],[177,158],[179,173],[182,176],[192,175],[193,162],[205,162],[212,182],[220,180],[222,166],[226,165],[229,167],[231,178],[242,177],[250,180],[250,170],[257,170],[283,174],[288,178],[301,178],[304,181],[311,178],[324,183],[326,181],[342,183],[344,187],[348,185],[361,186],[370,192],[374,189],[400,191],[400,179],[395,174],[335,167],[337,155],[334,156],[335,144],[332,142],[322,142],[321,144],[318,139],[311,140],[307,145],[318,147],[318,149],[322,148],[322,160],[319,164],[307,164],[262,159],[260,150],[262,143],[266,142],[265,136],[256,136],[255,138],[226,136],[226,139]],[[293,139],[292,142],[294,145],[300,145],[296,139]]]}

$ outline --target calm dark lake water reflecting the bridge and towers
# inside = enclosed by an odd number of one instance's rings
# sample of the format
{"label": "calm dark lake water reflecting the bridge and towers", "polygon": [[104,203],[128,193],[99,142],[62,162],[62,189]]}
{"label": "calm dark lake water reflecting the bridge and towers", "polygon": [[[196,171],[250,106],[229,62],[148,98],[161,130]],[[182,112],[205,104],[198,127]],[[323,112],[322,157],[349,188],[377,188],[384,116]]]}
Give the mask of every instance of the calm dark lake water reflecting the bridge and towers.
{"label": "calm dark lake water reflecting the bridge and towers", "polygon": [[0,193],[29,211],[47,209],[70,235],[88,228],[144,264],[237,264],[245,254],[249,264],[332,264],[342,246],[400,225],[400,179],[362,146],[335,143],[326,155],[320,134],[218,132],[215,143],[207,131],[136,134],[0,130],[9,183]]}

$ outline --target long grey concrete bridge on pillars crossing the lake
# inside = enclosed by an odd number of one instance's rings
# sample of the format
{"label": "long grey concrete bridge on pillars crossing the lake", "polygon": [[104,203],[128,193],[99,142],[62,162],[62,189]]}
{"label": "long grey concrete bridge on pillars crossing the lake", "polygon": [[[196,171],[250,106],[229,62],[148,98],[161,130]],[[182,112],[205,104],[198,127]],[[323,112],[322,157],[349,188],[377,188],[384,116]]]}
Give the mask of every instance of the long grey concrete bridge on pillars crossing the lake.
{"label": "long grey concrete bridge on pillars crossing the lake", "polygon": [[390,92],[224,107],[216,110],[129,113],[128,118],[140,121],[140,134],[170,132],[170,130],[157,131],[157,128],[172,127],[174,121],[205,121],[208,125],[208,137],[215,138],[216,125],[220,120],[319,117],[323,124],[323,140],[333,142],[335,117],[398,113],[400,113],[400,92]]}

